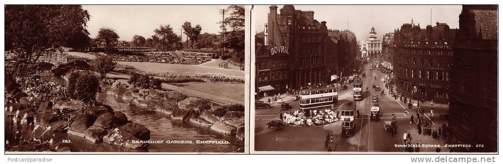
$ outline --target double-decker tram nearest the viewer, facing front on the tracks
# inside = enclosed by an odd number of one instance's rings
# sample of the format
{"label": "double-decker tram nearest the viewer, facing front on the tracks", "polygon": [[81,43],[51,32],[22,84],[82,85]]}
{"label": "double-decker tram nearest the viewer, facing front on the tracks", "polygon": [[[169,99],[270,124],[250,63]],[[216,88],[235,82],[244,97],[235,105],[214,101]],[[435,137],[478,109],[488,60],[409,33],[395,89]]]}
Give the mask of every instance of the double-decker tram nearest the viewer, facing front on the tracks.
{"label": "double-decker tram nearest the viewer, facing front on the tracks", "polygon": [[341,109],[341,121],[342,121],[342,136],[350,137],[355,133],[355,111],[356,102],[349,101],[348,103],[342,105]]}

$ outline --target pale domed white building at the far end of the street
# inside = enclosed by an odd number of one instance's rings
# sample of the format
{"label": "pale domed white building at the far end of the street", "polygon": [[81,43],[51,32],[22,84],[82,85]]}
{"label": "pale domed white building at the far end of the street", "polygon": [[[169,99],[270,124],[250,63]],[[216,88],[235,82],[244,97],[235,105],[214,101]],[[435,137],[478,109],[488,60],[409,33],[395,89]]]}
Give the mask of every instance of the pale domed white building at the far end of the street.
{"label": "pale domed white building at the far end of the street", "polygon": [[377,58],[382,54],[382,41],[377,40],[377,33],[372,27],[369,32],[369,38],[367,40],[362,41],[361,44],[361,54],[362,58]]}

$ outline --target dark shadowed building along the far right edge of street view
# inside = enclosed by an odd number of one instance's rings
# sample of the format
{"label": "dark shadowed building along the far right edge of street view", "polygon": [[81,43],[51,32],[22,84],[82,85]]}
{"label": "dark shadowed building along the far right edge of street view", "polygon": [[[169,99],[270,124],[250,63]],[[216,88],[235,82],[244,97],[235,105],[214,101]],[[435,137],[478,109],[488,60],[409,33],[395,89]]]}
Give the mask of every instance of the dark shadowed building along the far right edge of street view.
{"label": "dark shadowed building along the far right edge of street view", "polygon": [[464,5],[454,40],[449,126],[454,143],[481,144],[497,152],[498,6]]}

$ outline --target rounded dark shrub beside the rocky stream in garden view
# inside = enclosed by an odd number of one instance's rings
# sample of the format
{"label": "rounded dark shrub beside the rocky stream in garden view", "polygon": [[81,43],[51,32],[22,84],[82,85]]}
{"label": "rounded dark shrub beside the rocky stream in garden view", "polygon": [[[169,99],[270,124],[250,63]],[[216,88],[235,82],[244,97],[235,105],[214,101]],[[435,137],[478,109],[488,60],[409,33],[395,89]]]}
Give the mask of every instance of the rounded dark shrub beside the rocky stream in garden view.
{"label": "rounded dark shrub beside the rocky stream in garden view", "polygon": [[96,102],[99,87],[98,77],[89,71],[72,71],[68,77],[67,89],[70,98],[87,104]]}

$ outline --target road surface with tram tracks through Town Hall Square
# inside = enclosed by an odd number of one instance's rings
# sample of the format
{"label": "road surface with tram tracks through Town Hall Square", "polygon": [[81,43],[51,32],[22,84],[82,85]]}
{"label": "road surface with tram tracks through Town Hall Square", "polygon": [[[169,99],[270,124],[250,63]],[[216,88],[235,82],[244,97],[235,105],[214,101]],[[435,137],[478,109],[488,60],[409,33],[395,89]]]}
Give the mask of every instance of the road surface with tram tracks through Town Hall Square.
{"label": "road surface with tram tracks through Town Hall Square", "polygon": [[[363,71],[367,75],[373,75],[374,71],[368,69],[368,65],[363,66]],[[376,79],[372,76],[362,78],[363,80],[363,100],[356,101],[357,110],[360,116],[355,119],[355,133],[352,137],[341,136],[341,123],[336,123],[323,127],[292,127],[286,126],[282,130],[267,129],[265,126],[268,122],[279,120],[280,103],[272,103],[269,109],[255,110],[255,151],[327,151],[324,147],[326,134],[333,135],[333,143],[329,146],[332,150],[338,152],[405,152],[405,148],[397,147],[395,144],[403,143],[403,133],[408,132],[412,136],[411,143],[444,145],[446,140],[433,139],[432,136],[424,136],[418,134],[416,123],[410,123],[410,116],[415,115],[415,108],[408,109],[407,104],[399,102],[388,95],[388,89],[385,84],[380,82],[380,79],[386,75],[376,70]],[[384,89],[385,95],[380,95],[380,91],[372,90],[372,84],[379,84]],[[353,101],[353,95],[350,90],[352,85],[348,85],[348,89],[339,90],[339,105]],[[366,88],[369,91],[366,91]],[[372,95],[378,95],[379,106],[381,107],[381,119],[378,121],[370,120],[370,107],[373,105]],[[292,101],[291,95],[281,95],[282,101],[292,105],[292,111],[299,109],[299,101]],[[262,97],[259,100],[267,102],[270,97]],[[272,98],[271,98],[272,99]],[[432,130],[438,129],[442,124],[447,124],[446,120],[440,119],[440,114],[448,113],[449,106],[446,104],[433,104],[425,102],[420,104],[426,108],[428,113],[425,116],[426,121],[432,122]],[[434,115],[430,116],[430,108],[434,108]],[[404,110],[407,109],[409,114],[404,115]],[[391,114],[396,116],[397,134],[393,137],[389,132],[384,131],[384,121],[391,121]],[[417,119],[417,118],[415,118]],[[420,148],[420,152],[435,152],[436,147]],[[441,152],[449,152],[448,148],[441,147]]]}

